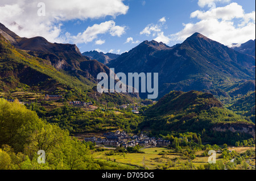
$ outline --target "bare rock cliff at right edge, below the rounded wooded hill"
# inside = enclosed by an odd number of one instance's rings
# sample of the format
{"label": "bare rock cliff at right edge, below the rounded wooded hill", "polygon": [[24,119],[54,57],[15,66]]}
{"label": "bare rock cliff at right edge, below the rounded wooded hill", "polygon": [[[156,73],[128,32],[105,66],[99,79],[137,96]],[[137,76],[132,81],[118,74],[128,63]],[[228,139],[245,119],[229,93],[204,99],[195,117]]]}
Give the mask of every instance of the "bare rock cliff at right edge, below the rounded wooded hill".
{"label": "bare rock cliff at right edge, below the rounded wooded hill", "polygon": [[226,132],[231,131],[233,133],[247,133],[251,134],[255,138],[255,125],[254,124],[245,124],[245,123],[221,123],[214,125],[212,128],[216,132]]}

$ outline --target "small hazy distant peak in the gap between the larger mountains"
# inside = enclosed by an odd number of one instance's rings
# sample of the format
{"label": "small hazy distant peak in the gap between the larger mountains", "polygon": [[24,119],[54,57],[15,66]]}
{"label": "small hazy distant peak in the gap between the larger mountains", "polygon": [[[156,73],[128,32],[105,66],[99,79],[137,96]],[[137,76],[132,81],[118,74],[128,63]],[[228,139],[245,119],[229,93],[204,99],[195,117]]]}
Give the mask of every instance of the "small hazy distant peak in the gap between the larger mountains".
{"label": "small hazy distant peak in the gap between the larger mountains", "polygon": [[98,52],[96,50],[93,50],[90,52],[84,52],[84,53],[82,53],[82,55],[89,57],[90,60],[97,60],[105,65],[109,64],[110,61],[112,61],[120,56],[119,54],[103,53],[103,52]]}

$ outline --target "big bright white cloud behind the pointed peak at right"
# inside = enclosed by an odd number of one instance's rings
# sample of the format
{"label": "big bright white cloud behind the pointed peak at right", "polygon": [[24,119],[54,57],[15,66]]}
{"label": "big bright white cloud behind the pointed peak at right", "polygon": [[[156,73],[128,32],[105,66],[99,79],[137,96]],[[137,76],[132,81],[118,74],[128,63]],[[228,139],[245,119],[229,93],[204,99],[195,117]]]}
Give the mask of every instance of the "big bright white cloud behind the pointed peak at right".
{"label": "big bright white cloud behind the pointed peak at right", "polygon": [[246,14],[237,3],[208,11],[197,10],[192,12],[191,18],[197,18],[199,22],[183,24],[183,30],[171,35],[172,40],[184,41],[195,32],[229,47],[233,43],[241,44],[255,39],[255,11]]}

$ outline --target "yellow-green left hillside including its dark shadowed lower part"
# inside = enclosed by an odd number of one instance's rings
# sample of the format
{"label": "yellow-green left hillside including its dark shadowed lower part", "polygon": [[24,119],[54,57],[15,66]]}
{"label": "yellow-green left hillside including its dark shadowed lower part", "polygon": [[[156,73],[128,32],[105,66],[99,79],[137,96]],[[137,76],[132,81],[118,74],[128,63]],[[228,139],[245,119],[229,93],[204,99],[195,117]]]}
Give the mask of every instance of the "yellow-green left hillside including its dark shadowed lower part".
{"label": "yellow-green left hillside including its dark shadowed lower part", "polygon": [[15,87],[40,86],[48,90],[51,86],[67,85],[69,88],[77,87],[89,89],[92,83],[85,84],[75,77],[57,71],[51,62],[32,57],[22,50],[16,49],[0,35],[0,83],[2,90]]}

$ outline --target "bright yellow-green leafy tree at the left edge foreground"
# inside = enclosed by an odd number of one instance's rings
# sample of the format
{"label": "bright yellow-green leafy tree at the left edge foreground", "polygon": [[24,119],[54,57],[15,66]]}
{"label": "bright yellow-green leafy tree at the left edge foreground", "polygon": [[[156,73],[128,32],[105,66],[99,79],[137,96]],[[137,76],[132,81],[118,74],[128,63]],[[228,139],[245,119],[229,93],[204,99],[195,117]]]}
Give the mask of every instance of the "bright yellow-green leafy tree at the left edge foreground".
{"label": "bright yellow-green leafy tree at the left edge foreground", "polygon": [[31,134],[43,125],[36,112],[27,110],[18,101],[9,103],[0,99],[0,145],[7,144],[16,152],[23,151]]}

